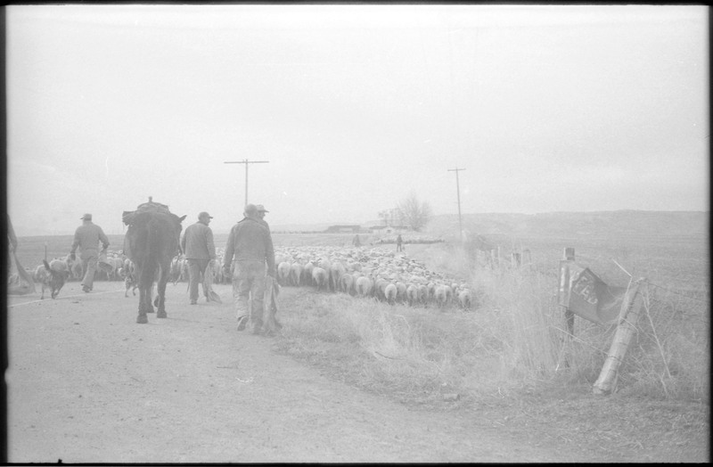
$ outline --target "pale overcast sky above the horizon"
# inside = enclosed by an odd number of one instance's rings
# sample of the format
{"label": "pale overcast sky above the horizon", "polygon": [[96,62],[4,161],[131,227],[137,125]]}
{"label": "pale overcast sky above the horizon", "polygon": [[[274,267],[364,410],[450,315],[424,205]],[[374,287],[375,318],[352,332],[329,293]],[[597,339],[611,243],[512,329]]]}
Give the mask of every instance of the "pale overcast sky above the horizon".
{"label": "pale overcast sky above the horizon", "polygon": [[8,211],[709,209],[705,6],[12,5]]}

